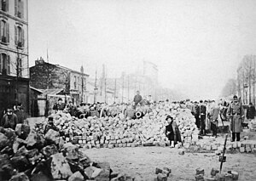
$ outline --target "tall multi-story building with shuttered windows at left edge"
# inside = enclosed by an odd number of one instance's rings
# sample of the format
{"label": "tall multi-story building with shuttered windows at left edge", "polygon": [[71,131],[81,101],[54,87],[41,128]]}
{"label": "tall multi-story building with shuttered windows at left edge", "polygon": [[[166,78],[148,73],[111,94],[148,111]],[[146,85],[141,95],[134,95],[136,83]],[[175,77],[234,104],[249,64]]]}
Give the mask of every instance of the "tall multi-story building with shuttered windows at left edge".
{"label": "tall multi-story building with shuttered windows at left edge", "polygon": [[27,0],[1,0],[0,110],[21,103],[29,111],[27,40]]}

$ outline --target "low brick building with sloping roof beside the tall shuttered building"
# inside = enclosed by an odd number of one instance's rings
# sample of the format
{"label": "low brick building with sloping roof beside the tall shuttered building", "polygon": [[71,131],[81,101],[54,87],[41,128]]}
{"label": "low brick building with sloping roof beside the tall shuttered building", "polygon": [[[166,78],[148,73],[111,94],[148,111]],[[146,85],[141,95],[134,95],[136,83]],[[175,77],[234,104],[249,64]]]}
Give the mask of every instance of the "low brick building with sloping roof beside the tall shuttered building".
{"label": "low brick building with sloping roof beside the tall shuttered building", "polygon": [[[82,69],[83,70],[83,69]],[[81,71],[82,71],[81,70]],[[86,84],[89,75],[61,65],[53,65],[40,58],[30,67],[31,86],[38,89],[61,88],[75,105],[87,101]]]}

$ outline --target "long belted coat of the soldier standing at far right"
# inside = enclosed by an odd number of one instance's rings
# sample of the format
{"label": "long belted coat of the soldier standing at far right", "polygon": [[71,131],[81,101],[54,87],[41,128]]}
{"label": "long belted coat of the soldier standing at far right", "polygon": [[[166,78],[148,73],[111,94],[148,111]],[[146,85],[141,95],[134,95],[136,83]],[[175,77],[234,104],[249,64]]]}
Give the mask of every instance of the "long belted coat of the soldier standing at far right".
{"label": "long belted coat of the soldier standing at far right", "polygon": [[232,133],[241,133],[241,122],[244,119],[244,110],[240,103],[231,103],[227,115],[230,118],[230,130]]}

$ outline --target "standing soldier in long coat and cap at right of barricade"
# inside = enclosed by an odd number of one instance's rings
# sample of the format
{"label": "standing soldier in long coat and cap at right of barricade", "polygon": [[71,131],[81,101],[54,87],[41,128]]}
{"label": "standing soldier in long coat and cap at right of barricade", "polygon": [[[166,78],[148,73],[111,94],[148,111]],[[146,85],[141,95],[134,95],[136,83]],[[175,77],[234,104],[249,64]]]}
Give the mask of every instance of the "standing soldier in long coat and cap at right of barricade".
{"label": "standing soldier in long coat and cap at right of barricade", "polygon": [[233,101],[230,103],[227,115],[230,118],[230,130],[232,133],[231,142],[234,142],[235,140],[240,141],[241,122],[244,121],[244,110],[236,95],[234,95]]}

